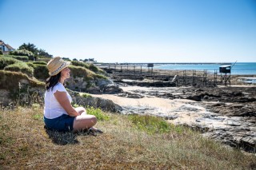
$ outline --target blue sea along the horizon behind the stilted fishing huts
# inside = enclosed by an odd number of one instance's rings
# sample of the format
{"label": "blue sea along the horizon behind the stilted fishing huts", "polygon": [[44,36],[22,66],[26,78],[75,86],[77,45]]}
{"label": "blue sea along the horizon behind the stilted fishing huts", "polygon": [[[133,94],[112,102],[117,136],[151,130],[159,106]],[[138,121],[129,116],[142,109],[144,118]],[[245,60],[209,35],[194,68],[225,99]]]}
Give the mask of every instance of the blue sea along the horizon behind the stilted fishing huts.
{"label": "blue sea along the horizon behind the stilted fishing huts", "polygon": [[[256,62],[237,62],[230,63],[231,65],[231,75],[246,75],[253,76],[248,78],[249,83],[256,83]],[[208,73],[214,73],[217,70],[219,73],[219,67],[222,64],[201,64],[201,63],[186,63],[186,64],[161,64],[154,65],[154,69],[170,69],[170,70],[207,70]]]}

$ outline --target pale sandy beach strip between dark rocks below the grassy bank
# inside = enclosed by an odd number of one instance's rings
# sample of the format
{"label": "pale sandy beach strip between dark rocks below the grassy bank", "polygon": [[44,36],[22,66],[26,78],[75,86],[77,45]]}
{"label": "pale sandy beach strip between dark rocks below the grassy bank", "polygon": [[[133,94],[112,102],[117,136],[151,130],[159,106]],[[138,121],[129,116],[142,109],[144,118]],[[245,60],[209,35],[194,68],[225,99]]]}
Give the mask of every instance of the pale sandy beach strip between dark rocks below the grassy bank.
{"label": "pale sandy beach strip between dark rocks below the grassy bank", "polygon": [[[134,90],[142,90],[150,92],[152,88],[139,87],[139,86],[126,86],[121,87],[126,93],[134,93]],[[113,94],[93,94],[93,97],[102,97],[109,99],[115,104],[120,105],[125,110],[122,113],[138,113],[138,114],[151,114],[160,116],[174,116],[178,117],[174,120],[169,120],[174,124],[186,123],[191,125],[199,117],[202,117],[203,113],[206,113],[206,109],[202,107],[197,101],[190,101],[187,99],[175,99],[169,100],[160,97],[154,97],[146,95],[142,98],[129,98],[119,97]]]}

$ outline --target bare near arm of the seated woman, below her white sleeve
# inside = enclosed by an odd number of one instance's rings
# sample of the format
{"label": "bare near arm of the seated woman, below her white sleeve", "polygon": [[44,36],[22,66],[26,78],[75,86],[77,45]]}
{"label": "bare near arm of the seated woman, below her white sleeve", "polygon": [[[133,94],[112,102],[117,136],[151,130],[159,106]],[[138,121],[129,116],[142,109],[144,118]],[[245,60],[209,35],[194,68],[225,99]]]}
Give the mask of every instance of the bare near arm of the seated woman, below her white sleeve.
{"label": "bare near arm of the seated woman, below her white sleeve", "polygon": [[80,115],[70,104],[70,101],[66,95],[66,92],[56,91],[54,93],[54,97],[56,97],[58,103],[62,105],[62,108],[66,110],[66,113],[70,115],[70,117],[76,117]]}

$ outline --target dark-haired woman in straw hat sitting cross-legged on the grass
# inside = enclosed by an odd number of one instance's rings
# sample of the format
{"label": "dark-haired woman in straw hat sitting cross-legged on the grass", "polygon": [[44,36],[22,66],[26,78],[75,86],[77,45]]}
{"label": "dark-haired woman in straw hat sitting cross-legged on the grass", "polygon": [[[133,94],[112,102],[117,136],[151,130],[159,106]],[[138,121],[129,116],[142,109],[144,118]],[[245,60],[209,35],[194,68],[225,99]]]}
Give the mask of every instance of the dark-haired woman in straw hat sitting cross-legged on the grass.
{"label": "dark-haired woman in straw hat sitting cross-legged on the grass", "polygon": [[78,132],[83,129],[99,131],[93,126],[97,123],[94,115],[87,115],[83,107],[73,108],[72,98],[63,86],[70,77],[70,62],[61,57],[52,58],[47,68],[50,77],[46,80],[44,121],[46,128],[61,132]]}

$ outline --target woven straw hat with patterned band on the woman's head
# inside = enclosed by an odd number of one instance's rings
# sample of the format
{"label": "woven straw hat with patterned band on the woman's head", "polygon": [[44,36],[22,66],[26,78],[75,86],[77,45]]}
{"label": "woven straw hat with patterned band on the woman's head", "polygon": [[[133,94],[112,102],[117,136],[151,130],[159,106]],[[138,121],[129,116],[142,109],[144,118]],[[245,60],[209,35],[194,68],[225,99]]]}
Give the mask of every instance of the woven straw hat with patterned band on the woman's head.
{"label": "woven straw hat with patterned band on the woman's head", "polygon": [[69,65],[70,61],[64,61],[61,57],[54,57],[47,64],[49,75],[55,76]]}

